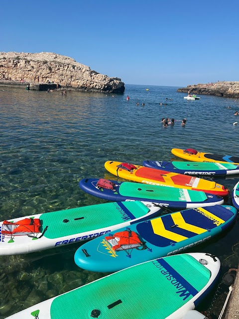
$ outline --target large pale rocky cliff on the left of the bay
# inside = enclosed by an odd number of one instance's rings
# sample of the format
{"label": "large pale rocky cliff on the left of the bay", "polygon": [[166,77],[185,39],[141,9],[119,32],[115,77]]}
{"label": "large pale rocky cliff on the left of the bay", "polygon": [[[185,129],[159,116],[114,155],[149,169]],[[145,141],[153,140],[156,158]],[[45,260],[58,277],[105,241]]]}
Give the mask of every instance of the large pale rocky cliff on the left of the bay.
{"label": "large pale rocky cliff on the left of the bay", "polygon": [[0,80],[59,83],[84,91],[123,92],[124,83],[55,53],[0,52]]}

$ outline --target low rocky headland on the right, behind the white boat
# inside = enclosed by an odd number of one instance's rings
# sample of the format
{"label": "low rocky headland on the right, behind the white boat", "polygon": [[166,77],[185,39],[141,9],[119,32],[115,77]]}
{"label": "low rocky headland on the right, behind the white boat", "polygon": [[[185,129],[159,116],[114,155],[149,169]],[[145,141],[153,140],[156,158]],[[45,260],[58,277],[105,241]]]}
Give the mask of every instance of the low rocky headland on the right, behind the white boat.
{"label": "low rocky headland on the right, behind the white boat", "polygon": [[228,98],[239,98],[239,81],[236,82],[214,82],[208,84],[194,84],[188,85],[186,88],[177,90],[178,92],[185,92],[194,94],[207,94],[224,96]]}

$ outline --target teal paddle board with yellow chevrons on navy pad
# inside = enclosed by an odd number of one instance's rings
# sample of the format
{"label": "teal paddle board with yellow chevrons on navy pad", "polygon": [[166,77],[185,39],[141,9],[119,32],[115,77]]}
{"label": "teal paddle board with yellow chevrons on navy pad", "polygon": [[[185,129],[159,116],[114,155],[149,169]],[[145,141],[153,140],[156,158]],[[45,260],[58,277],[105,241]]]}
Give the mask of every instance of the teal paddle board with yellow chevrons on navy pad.
{"label": "teal paddle board with yellow chevrons on navy pad", "polygon": [[235,207],[216,205],[135,223],[83,244],[75,253],[75,263],[94,272],[115,272],[182,253],[221,233],[236,216]]}

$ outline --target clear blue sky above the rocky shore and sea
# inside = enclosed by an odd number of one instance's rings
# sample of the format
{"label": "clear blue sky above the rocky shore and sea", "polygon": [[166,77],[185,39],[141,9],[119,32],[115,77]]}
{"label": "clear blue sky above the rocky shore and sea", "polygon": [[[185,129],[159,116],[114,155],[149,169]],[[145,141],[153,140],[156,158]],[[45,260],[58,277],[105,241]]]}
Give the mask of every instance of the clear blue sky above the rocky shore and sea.
{"label": "clear blue sky above the rocky shore and sea", "polygon": [[8,0],[0,51],[54,52],[126,84],[239,81],[239,0]]}

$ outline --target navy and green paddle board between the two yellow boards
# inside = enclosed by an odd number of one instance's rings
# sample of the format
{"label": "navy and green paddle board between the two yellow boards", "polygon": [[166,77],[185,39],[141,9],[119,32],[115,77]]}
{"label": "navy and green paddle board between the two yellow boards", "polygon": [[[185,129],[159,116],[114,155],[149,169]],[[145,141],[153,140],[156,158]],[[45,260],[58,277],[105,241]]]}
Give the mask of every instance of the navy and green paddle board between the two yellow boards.
{"label": "navy and green paddle board between the two yellow boards", "polygon": [[144,160],[143,166],[186,175],[214,176],[239,174],[239,165],[231,163],[221,164],[216,162],[195,163],[194,161]]}

